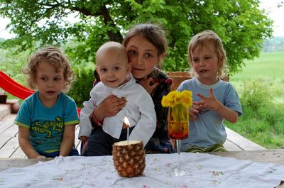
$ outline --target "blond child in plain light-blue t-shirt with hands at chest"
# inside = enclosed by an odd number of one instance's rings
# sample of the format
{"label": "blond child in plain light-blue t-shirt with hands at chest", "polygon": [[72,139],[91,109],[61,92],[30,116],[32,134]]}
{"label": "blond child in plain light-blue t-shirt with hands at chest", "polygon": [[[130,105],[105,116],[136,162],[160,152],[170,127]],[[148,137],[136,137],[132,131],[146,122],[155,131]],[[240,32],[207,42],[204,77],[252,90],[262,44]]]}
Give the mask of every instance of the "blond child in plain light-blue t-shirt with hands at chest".
{"label": "blond child in plain light-blue t-shirt with hands at chest", "polygon": [[229,82],[219,77],[226,63],[222,40],[213,31],[195,35],[188,46],[188,58],[197,74],[180,84],[178,91],[192,91],[190,136],[181,141],[184,152],[226,151],[224,119],[236,123],[242,114],[239,96]]}

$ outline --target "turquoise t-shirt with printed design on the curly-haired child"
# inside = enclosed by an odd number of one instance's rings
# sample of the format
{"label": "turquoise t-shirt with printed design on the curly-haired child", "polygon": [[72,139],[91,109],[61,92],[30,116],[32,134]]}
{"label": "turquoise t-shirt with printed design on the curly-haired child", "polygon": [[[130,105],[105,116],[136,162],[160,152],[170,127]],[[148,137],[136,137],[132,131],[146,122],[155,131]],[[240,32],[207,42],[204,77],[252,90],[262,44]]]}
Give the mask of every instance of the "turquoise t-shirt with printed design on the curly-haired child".
{"label": "turquoise t-shirt with printed design on the curly-haired child", "polygon": [[38,92],[28,96],[18,111],[15,124],[29,128],[33,148],[41,153],[60,150],[64,126],[79,123],[75,101],[61,93],[53,107],[41,103]]}

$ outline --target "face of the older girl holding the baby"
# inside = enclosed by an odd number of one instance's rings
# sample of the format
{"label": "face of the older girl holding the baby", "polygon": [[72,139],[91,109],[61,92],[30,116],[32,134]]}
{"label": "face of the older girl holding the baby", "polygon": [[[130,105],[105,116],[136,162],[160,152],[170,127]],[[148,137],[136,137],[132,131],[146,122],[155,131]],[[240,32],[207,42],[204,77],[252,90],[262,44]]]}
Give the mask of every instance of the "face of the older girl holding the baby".
{"label": "face of the older girl holding the baby", "polygon": [[126,46],[129,62],[132,63],[133,77],[145,78],[153,72],[155,65],[163,59],[164,55],[158,55],[158,49],[143,35],[134,35]]}

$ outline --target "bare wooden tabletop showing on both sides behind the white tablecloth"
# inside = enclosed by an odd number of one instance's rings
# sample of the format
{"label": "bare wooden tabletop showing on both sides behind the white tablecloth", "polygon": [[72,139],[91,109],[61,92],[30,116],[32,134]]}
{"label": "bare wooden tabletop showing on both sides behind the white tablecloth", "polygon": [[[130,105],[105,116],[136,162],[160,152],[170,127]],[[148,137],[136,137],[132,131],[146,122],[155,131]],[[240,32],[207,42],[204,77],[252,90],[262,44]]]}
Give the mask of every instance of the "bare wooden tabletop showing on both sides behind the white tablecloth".
{"label": "bare wooden tabletop showing on both sides behind the white tablecloth", "polygon": [[[256,150],[256,151],[229,151],[222,153],[211,153],[222,157],[233,157],[239,160],[252,160],[255,162],[272,162],[279,165],[284,165],[284,149],[277,150]],[[34,165],[39,161],[46,160],[31,160],[31,159],[0,159],[0,172],[9,167],[26,167]]]}

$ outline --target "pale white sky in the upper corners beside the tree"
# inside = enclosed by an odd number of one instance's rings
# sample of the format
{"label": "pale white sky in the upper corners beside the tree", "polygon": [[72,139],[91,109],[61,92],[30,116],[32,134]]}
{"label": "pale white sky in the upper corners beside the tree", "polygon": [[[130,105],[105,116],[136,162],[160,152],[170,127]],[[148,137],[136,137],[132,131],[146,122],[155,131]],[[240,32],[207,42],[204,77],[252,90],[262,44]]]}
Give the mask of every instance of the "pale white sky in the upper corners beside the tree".
{"label": "pale white sky in the upper corners beside the tree", "polygon": [[[284,2],[283,0],[261,0],[261,8],[269,11],[268,17],[274,21],[273,36],[284,36],[284,3],[283,6],[277,7],[277,4]],[[0,17],[0,37],[13,38],[14,34],[6,31],[6,25],[9,23],[8,18]]]}

